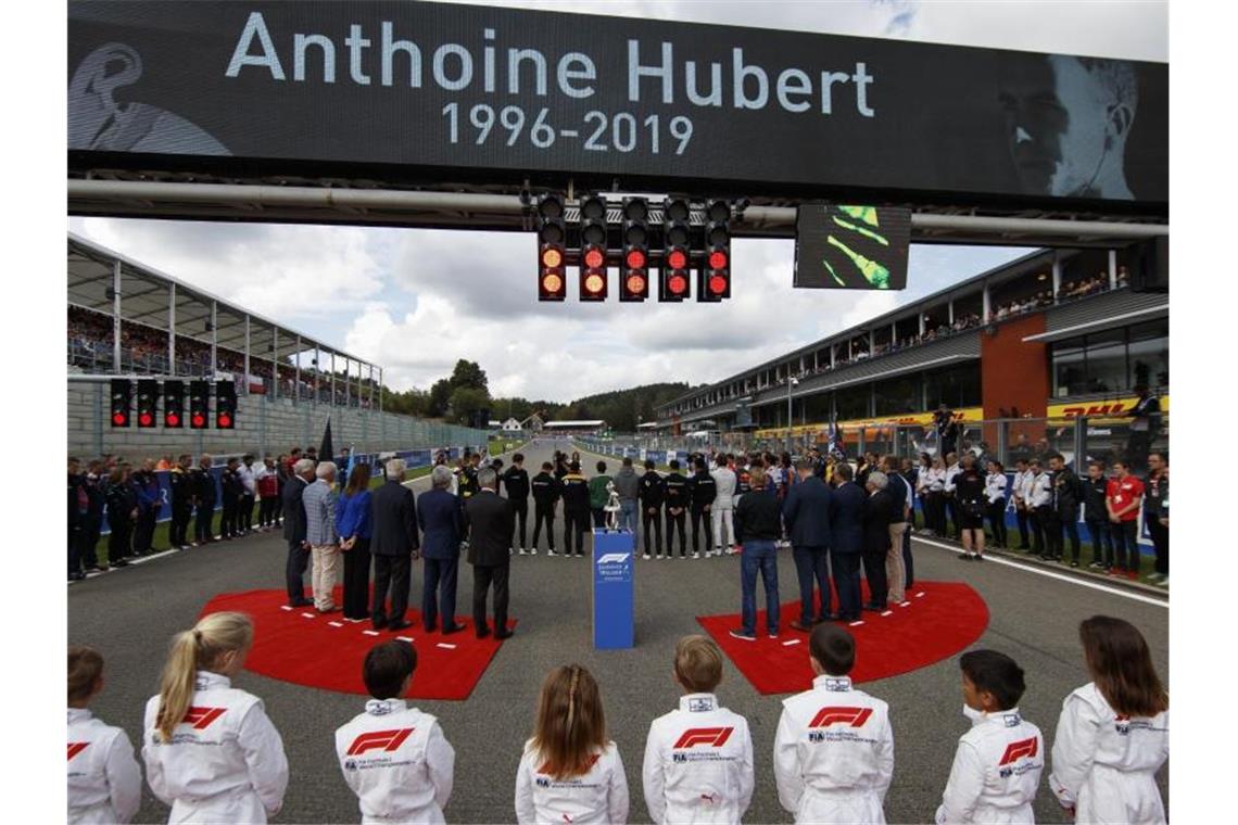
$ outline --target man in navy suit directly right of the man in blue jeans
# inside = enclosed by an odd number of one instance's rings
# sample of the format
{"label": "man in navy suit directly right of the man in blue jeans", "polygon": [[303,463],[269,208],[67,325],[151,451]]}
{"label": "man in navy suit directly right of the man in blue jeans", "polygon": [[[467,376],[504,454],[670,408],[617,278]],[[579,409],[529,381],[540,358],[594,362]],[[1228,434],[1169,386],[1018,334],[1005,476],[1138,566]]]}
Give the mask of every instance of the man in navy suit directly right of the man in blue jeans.
{"label": "man in navy suit directly right of the man in blue jeans", "polygon": [[[833,494],[812,475],[812,459],[795,463],[800,482],[791,485],[782,502],[782,523],[791,537],[791,557],[800,578],[800,620],[792,630],[812,632],[816,622],[838,618],[829,610],[829,507]],[[751,495],[751,494],[744,494]],[[821,612],[813,607],[812,584],[821,591]]]}

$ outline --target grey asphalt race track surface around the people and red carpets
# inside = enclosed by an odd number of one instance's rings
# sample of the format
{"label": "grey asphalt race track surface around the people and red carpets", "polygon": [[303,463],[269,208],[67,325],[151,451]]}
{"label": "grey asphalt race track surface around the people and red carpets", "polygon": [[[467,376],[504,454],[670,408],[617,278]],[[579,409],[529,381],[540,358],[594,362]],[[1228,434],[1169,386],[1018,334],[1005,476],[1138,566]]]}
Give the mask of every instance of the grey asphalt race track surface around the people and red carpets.
{"label": "grey asphalt race track surface around the people and red carpets", "polygon": [[[566,443],[557,445],[567,448]],[[537,471],[555,449],[542,442],[525,449],[526,469]],[[593,469],[588,456],[586,470]],[[612,468],[617,464],[607,459]],[[589,472],[592,475],[592,472]],[[426,489],[427,480],[412,482]],[[531,507],[530,507],[531,510]],[[532,524],[530,523],[530,531]],[[556,519],[562,538],[562,519]],[[589,539],[587,538],[586,542]],[[690,538],[691,541],[691,538]],[[588,548],[586,548],[588,553]],[[1088,682],[1077,641],[1078,622],[1096,613],[1118,616],[1139,627],[1162,677],[1169,680],[1169,610],[1125,595],[1062,581],[998,563],[966,564],[951,550],[914,543],[917,579],[966,580],[987,601],[989,626],[977,647],[999,649],[1026,672],[1028,693],[1020,707],[1045,733],[1046,747],[1062,699]],[[172,553],[74,584],[68,592],[69,642],[90,644],[106,659],[106,688],[93,710],[123,726],[135,747],[141,741],[141,714],[157,690],[167,643],[173,632],[192,626],[202,605],[219,592],[282,588],[286,547],[276,533]],[[462,566],[467,566],[462,563]],[[678,690],[671,682],[675,642],[701,632],[698,615],[739,609],[739,560],[639,560],[636,576],[636,647],[595,652],[589,639],[589,565],[586,559],[516,557],[511,569],[511,613],[519,618],[513,639],[495,654],[468,701],[418,701],[438,716],[456,748],[456,788],[447,806],[451,823],[514,821],[515,773],[530,733],[537,690],[546,672],[578,662],[602,684],[610,736],[619,746],[631,794],[630,820],[649,821],[640,788],[640,767],[650,721],[672,709]],[[782,601],[796,594],[790,552],[779,554]],[[459,605],[468,605],[472,576],[461,571]],[[421,591],[415,565],[412,601]],[[327,693],[243,673],[236,685],[264,699],[284,737],[291,780],[276,823],[359,821],[335,761],[333,733],[359,712],[359,696]],[[807,685],[806,685],[807,686]],[[943,660],[899,677],[863,685],[890,703],[895,733],[894,783],[886,798],[891,823],[932,821],[950,773],[962,715],[958,667]],[[748,823],[790,823],[773,777],[774,732],[779,696],[763,696],[728,663],[719,688],[724,705],[745,715],[756,756],[756,790]],[[1167,767],[1159,777],[1169,803]],[[1047,779],[1047,771],[1046,777]],[[1066,821],[1041,782],[1037,821]],[[167,808],[149,790],[135,821],[167,821]]]}

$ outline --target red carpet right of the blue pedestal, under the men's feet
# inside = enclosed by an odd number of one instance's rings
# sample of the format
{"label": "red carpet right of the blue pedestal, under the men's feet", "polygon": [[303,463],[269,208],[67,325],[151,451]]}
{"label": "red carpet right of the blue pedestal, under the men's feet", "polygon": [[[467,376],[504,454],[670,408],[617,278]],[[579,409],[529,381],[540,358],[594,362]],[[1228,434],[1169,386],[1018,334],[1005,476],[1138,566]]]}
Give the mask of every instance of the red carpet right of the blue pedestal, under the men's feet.
{"label": "red carpet right of the blue pedestal, under the men's feet", "polygon": [[[758,583],[756,604],[764,600]],[[868,600],[867,586],[864,600]],[[989,623],[984,600],[959,581],[916,581],[907,591],[906,605],[891,604],[889,616],[865,610],[863,625],[844,626],[855,637],[855,669],[851,674],[854,682],[884,679],[954,656],[976,642]],[[796,693],[812,684],[808,636],[790,627],[800,617],[800,600],[784,601],[780,610],[776,639],[765,636],[765,611],[756,612],[755,642],[730,636],[732,630],[739,628],[739,613],[697,616],[706,632],[763,694]]]}

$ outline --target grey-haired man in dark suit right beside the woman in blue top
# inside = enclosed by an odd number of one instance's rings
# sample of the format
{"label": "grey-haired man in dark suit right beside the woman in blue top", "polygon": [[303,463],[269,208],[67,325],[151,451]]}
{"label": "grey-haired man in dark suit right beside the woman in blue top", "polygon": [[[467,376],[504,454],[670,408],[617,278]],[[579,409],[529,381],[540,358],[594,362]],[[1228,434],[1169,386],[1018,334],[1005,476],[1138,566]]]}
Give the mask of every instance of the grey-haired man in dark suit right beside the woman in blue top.
{"label": "grey-haired man in dark suit right beside the woman in blue top", "polygon": [[[374,534],[370,555],[374,557],[374,607],[370,611],[374,630],[386,627],[402,631],[412,622],[404,620],[409,609],[409,578],[417,550],[417,507],[412,490],[404,486],[404,459],[386,464],[386,481],[370,494]],[[391,612],[385,610],[391,592]]]}

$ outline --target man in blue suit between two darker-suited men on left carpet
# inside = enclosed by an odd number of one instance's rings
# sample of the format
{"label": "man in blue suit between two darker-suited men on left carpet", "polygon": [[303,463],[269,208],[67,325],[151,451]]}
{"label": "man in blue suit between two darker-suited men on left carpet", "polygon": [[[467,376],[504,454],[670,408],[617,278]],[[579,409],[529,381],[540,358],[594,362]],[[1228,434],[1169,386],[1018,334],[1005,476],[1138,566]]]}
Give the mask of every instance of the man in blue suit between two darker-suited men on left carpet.
{"label": "man in blue suit between two darker-suited men on left carpet", "polygon": [[443,635],[464,630],[456,623],[456,580],[461,564],[461,539],[464,537],[464,511],[451,492],[452,471],[444,465],[430,474],[430,490],[417,497],[417,522],[426,560],[421,586],[421,618],[426,631],[433,631],[438,609],[443,609]]}

